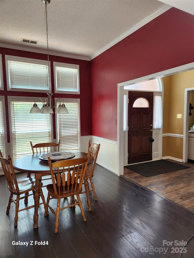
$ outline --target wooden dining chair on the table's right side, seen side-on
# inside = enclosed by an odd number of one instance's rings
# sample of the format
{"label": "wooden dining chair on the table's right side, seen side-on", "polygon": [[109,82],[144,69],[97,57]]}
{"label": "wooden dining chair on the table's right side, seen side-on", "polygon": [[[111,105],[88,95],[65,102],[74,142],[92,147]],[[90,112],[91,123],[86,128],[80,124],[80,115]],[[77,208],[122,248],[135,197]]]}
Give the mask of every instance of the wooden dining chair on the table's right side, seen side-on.
{"label": "wooden dining chair on the table's right side, seen side-on", "polygon": [[[91,153],[91,155],[93,156],[94,159],[93,159],[93,162],[91,164],[89,164],[87,169],[86,169],[85,178],[84,178],[85,191],[81,192],[81,194],[86,193],[86,195],[87,195],[87,202],[88,202],[88,210],[89,211],[91,211],[89,192],[93,191],[95,201],[98,200],[97,196],[96,196],[96,193],[95,193],[92,177],[94,176],[94,168],[95,168],[96,159],[97,159],[97,156],[98,156],[99,149],[100,149],[100,144],[90,143],[90,140],[89,140],[88,152]],[[92,189],[89,189],[88,179],[90,180],[90,184],[91,184]]]}

